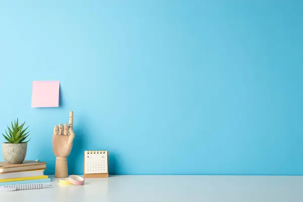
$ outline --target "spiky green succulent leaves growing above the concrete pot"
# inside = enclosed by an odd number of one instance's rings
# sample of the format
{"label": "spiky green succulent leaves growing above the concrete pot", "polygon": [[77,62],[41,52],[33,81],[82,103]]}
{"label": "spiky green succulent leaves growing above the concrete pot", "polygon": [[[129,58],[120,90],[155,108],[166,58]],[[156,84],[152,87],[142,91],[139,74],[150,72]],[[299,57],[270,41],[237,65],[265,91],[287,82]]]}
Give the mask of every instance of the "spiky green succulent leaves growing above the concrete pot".
{"label": "spiky green succulent leaves growing above the concrete pot", "polygon": [[4,135],[3,133],[2,133],[2,135],[4,136],[4,138],[9,143],[15,143],[16,144],[16,143],[25,143],[25,142],[28,142],[30,139],[27,140],[27,141],[25,141],[25,139],[28,137],[28,135],[29,135],[28,133],[30,131],[26,132],[28,126],[25,129],[23,129],[24,124],[25,124],[25,122],[19,126],[19,121],[17,119],[17,122],[15,120],[15,124],[14,125],[13,125],[13,122],[12,122],[12,129],[8,126],[9,134],[5,130],[5,133],[7,135]]}

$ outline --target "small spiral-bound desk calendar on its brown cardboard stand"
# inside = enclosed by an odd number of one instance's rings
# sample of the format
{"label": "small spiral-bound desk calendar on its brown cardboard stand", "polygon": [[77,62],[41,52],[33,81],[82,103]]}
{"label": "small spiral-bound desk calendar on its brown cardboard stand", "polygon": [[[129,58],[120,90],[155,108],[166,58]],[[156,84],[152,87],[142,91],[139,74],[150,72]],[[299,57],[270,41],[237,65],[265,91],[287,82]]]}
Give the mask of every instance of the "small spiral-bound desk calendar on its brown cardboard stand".
{"label": "small spiral-bound desk calendar on its brown cardboard stand", "polygon": [[84,178],[109,177],[109,151],[84,151]]}

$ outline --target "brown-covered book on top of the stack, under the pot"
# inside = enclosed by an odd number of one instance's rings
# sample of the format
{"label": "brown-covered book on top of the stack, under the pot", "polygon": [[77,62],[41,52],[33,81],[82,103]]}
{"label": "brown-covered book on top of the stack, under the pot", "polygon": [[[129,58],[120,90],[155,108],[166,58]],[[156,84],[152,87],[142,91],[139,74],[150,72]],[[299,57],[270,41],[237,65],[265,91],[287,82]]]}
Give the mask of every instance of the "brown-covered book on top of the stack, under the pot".
{"label": "brown-covered book on top of the stack, under the pot", "polygon": [[0,162],[0,173],[46,169],[46,162],[24,160],[22,164]]}

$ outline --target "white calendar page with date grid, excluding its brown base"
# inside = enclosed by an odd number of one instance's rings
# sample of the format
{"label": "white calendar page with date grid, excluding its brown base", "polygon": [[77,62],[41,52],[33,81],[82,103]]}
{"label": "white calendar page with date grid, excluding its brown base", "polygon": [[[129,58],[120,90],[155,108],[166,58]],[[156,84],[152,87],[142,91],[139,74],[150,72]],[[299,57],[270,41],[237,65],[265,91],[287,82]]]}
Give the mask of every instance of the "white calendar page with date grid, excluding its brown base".
{"label": "white calendar page with date grid, excluding its brown base", "polygon": [[84,151],[85,174],[108,173],[108,152]]}

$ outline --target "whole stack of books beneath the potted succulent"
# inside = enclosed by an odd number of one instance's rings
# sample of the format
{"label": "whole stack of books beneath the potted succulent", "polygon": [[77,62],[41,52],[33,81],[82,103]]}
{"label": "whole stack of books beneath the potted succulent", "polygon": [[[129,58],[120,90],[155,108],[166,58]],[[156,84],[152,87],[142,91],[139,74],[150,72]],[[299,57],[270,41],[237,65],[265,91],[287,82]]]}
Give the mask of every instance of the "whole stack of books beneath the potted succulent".
{"label": "whole stack of books beneath the potted succulent", "polygon": [[0,186],[32,183],[49,183],[44,175],[45,162],[25,160],[22,164],[0,162]]}

